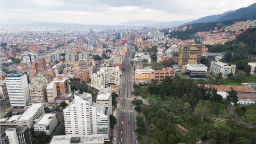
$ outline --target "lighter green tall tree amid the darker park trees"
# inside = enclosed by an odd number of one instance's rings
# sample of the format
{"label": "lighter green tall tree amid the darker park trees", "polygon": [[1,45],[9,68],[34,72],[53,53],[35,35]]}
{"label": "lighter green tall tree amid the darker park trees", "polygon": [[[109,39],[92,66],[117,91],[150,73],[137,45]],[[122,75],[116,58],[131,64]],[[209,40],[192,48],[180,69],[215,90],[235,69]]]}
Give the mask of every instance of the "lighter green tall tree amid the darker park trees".
{"label": "lighter green tall tree amid the darker park trees", "polygon": [[204,118],[210,104],[211,104],[211,102],[208,100],[207,101],[199,100],[199,102],[195,108],[194,114],[196,116],[200,116],[201,122],[203,121],[203,118]]}

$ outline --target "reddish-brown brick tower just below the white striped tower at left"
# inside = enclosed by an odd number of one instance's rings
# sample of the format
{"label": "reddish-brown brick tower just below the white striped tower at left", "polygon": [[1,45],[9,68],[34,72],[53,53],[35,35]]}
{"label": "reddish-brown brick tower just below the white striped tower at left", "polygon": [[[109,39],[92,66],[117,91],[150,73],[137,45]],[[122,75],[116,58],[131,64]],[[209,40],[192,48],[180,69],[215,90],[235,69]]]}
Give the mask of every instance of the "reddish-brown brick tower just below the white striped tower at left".
{"label": "reddish-brown brick tower just below the white striped tower at left", "polygon": [[44,59],[34,61],[31,65],[31,77],[34,77],[37,74],[43,74],[45,67],[46,62]]}

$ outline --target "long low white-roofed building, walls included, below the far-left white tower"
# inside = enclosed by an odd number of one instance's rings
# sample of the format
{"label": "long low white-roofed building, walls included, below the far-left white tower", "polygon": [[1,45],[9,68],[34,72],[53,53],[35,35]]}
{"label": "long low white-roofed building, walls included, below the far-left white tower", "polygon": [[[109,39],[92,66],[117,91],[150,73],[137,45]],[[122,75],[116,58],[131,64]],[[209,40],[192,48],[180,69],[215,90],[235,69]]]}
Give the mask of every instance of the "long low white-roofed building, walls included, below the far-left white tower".
{"label": "long low white-roofed building, walls included, below the far-left white tower", "polygon": [[44,114],[44,106],[42,103],[32,104],[27,108],[25,112],[21,114],[21,117],[16,120],[16,124],[19,126],[27,126],[33,128],[35,119],[41,117]]}

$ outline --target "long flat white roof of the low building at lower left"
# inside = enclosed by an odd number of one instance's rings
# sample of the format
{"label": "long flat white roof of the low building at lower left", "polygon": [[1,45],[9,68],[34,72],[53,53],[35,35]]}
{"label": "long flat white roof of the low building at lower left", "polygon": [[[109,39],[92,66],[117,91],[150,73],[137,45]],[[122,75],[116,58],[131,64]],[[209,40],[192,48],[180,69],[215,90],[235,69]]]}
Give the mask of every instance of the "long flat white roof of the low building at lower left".
{"label": "long flat white roof of the low building at lower left", "polygon": [[21,114],[21,117],[17,121],[28,121],[34,114],[38,111],[40,107],[43,106],[43,103],[34,103],[27,108],[25,112]]}

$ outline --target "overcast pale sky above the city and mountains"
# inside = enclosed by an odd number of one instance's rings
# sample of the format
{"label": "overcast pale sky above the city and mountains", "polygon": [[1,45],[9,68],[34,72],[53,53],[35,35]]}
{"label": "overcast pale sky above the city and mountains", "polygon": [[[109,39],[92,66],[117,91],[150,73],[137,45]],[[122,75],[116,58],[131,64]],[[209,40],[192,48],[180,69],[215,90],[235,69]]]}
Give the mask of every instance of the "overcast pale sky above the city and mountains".
{"label": "overcast pale sky above the city and mountains", "polygon": [[1,19],[81,24],[197,19],[256,0],[0,0]]}

